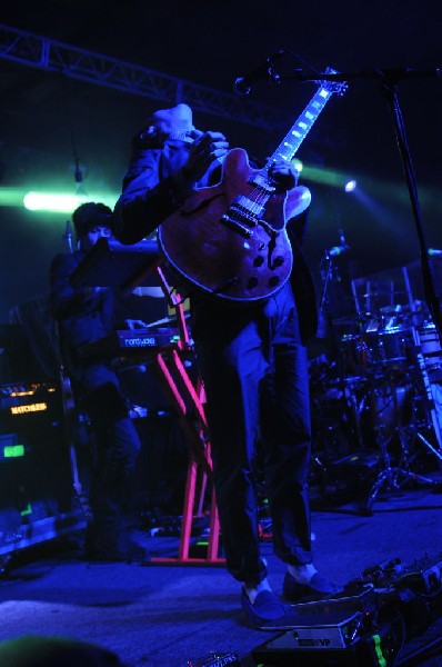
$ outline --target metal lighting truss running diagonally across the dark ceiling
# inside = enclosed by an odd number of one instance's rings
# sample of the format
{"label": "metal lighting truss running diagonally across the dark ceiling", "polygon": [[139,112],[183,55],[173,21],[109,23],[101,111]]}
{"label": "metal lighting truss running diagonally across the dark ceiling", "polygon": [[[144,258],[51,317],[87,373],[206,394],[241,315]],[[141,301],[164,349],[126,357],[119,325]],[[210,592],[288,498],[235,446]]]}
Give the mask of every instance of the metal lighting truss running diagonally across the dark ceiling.
{"label": "metal lighting truss running diagonally across the dark ceiling", "polygon": [[0,57],[171,106],[185,102],[197,111],[270,131],[291,122],[278,109],[2,24]]}

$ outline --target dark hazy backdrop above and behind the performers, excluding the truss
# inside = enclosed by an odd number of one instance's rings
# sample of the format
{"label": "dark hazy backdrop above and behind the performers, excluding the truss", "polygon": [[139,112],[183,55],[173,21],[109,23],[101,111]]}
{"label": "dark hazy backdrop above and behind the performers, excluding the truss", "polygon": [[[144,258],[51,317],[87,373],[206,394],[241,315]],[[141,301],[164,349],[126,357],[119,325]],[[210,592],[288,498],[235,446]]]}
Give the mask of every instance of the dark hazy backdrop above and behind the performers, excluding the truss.
{"label": "dark hazy backdrop above and behind the performers, excluding the truss", "polygon": [[[233,81],[269,54],[287,49],[317,70],[349,74],[349,90],[333,96],[301,146],[309,166],[355,178],[359,189],[304,181],[313,195],[307,253],[315,279],[324,249],[343,229],[351,250],[338,268],[359,277],[419,261],[420,243],[380,72],[431,74],[442,67],[439,0],[350,0],[297,3],[134,0],[110,3],[10,2],[1,23],[122,59],[194,84],[233,92]],[[291,72],[294,60],[284,60]],[[363,74],[353,77],[352,74]],[[315,91],[313,83],[261,83],[250,99],[293,121]],[[426,245],[442,247],[439,217],[442,79],[401,79],[398,94],[416,173]],[[0,58],[0,188],[76,190],[80,160],[87,191],[119,192],[130,139],[162,100],[70,79]],[[183,99],[182,101],[185,101]],[[263,158],[285,131],[195,112],[202,129],[220,129],[231,146]],[[0,207],[0,322],[14,306],[44,293],[51,257],[67,250],[67,216]],[[438,288],[439,289],[439,288]]]}

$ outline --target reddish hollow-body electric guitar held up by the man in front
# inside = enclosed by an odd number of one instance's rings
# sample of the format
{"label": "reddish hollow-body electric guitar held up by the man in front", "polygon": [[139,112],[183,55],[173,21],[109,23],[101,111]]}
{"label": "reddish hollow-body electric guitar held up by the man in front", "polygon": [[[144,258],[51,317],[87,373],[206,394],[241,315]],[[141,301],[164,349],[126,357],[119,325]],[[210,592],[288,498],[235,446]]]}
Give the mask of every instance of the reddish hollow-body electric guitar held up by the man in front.
{"label": "reddish hollow-body electric guitar held up by the man in front", "polygon": [[[334,73],[328,69],[325,73]],[[308,188],[278,192],[268,172],[275,160],[290,161],[333,92],[343,83],[320,82],[312,100],[262,169],[234,148],[222,179],[200,188],[159,227],[165,261],[181,278],[224,301],[260,301],[290,277],[293,257],[285,223],[310,205]]]}

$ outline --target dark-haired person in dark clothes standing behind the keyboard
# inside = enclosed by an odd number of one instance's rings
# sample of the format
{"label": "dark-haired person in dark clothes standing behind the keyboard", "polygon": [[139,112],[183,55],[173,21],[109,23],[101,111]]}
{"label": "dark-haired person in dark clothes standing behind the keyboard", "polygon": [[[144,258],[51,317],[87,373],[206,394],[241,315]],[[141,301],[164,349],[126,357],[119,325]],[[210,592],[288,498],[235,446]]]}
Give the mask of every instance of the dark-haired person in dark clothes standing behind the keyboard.
{"label": "dark-haired person in dark clothes standing behind the keyboard", "polygon": [[82,361],[77,349],[114,328],[114,295],[110,288],[73,288],[70,276],[94,243],[112,236],[111,210],[89,202],[72,215],[78,249],[57,255],[50,266],[50,307],[58,321],[60,346],[74,396],[91,420],[94,457],[89,502],[92,521],[87,530],[87,557],[127,560],[143,557],[127,528],[131,479],[140,439],[128,414],[128,401],[115,372],[107,362]]}

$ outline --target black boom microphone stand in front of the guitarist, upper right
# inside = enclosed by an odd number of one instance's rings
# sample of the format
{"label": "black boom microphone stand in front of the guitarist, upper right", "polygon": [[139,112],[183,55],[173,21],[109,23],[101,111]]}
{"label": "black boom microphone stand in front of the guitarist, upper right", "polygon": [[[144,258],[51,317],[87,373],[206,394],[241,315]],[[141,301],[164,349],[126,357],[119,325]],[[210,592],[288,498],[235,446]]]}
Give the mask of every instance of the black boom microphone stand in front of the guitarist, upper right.
{"label": "black boom microphone stand in front of the guitarist, upper right", "polygon": [[442,68],[433,68],[428,70],[415,70],[411,68],[398,68],[386,70],[373,70],[369,72],[348,72],[348,73],[320,73],[315,74],[314,78],[299,73],[299,70],[294,74],[280,76],[279,80],[297,80],[297,81],[335,81],[345,82],[354,79],[380,79],[381,80],[381,92],[385,98],[390,112],[393,118],[394,132],[400,151],[402,166],[405,173],[406,187],[409,190],[409,197],[411,208],[413,212],[414,223],[416,228],[418,239],[420,242],[421,253],[421,269],[422,278],[425,291],[425,298],[429,306],[430,313],[433,318],[435,329],[439,335],[439,339],[442,345],[442,310],[441,310],[441,298],[435,291],[435,277],[433,266],[429,259],[429,249],[425,242],[425,235],[423,231],[421,209],[418,197],[418,187],[414,176],[413,162],[411,158],[411,151],[408,143],[406,131],[404,120],[402,117],[401,106],[396,94],[396,88],[401,80],[409,79],[422,79],[422,78],[436,78],[442,77]]}

